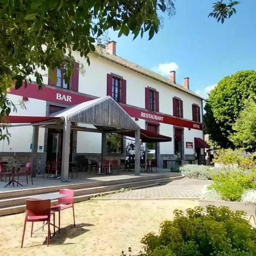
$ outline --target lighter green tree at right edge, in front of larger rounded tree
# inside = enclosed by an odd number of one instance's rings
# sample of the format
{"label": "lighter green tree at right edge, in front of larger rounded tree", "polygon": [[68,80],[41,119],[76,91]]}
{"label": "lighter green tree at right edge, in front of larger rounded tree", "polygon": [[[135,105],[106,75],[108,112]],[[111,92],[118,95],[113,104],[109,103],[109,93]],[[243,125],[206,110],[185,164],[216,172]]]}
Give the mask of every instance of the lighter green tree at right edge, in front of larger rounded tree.
{"label": "lighter green tree at right edge, in front of larger rounded tree", "polygon": [[245,101],[244,110],[239,114],[232,126],[234,133],[230,140],[236,147],[247,151],[256,151],[256,102],[255,99]]}

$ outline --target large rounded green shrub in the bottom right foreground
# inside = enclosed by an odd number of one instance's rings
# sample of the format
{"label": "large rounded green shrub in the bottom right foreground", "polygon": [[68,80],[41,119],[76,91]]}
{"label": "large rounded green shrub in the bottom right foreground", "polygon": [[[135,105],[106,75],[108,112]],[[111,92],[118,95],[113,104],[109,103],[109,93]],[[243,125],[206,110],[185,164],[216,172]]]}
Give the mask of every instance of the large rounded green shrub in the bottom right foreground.
{"label": "large rounded green shrub in the bottom right foreground", "polygon": [[173,221],[164,221],[159,234],[143,237],[141,256],[253,256],[256,230],[244,212],[207,206],[175,210]]}

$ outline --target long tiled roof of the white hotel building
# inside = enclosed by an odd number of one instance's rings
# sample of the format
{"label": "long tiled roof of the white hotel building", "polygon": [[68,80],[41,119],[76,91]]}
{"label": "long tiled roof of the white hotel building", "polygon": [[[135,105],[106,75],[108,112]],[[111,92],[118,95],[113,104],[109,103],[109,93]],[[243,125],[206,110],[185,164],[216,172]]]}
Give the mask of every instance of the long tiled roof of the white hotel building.
{"label": "long tiled roof of the white hotel building", "polygon": [[[160,81],[164,84],[168,84],[169,86],[171,87],[174,87],[178,90],[181,90],[185,93],[188,93],[192,96],[195,96],[199,99],[204,99],[202,98],[200,95],[198,95],[197,93],[194,93],[192,90],[188,90],[186,89],[183,85],[181,84],[178,84],[178,83],[173,83],[170,79],[168,79],[167,77],[165,76],[161,76],[160,74],[152,71],[152,70],[148,70],[146,69],[145,67],[141,67],[140,65],[138,64],[135,64],[134,62],[131,62],[131,61],[128,61],[126,60],[125,58],[122,58],[120,56],[117,56],[117,55],[114,55],[114,54],[111,54],[110,52],[108,52],[106,49],[104,49],[103,47],[101,46],[96,46],[96,49],[95,49],[95,52],[97,55],[103,57],[103,58],[106,58],[110,61],[113,61],[117,64],[120,64],[124,67],[128,67],[129,69],[131,70],[134,70],[138,73],[141,73],[145,76],[148,76],[148,77],[151,77],[152,79],[155,79],[157,81]],[[172,71],[172,70],[170,70]]]}

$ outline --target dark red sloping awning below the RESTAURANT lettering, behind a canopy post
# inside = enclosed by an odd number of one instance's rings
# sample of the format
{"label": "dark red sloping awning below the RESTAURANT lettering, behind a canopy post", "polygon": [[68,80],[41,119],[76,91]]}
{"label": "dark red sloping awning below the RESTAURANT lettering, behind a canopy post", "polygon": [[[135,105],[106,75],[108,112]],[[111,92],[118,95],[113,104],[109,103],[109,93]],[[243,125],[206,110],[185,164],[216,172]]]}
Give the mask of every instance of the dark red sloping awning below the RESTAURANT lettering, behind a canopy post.
{"label": "dark red sloping awning below the RESTAURANT lettering, behind a canopy post", "polygon": [[[135,137],[135,131],[124,131],[124,132],[120,132],[119,134],[132,137],[132,138]],[[151,131],[147,131],[144,129],[140,129],[140,140],[142,140],[142,142],[150,143],[150,142],[172,141],[172,138],[161,135],[161,134],[157,134]]]}

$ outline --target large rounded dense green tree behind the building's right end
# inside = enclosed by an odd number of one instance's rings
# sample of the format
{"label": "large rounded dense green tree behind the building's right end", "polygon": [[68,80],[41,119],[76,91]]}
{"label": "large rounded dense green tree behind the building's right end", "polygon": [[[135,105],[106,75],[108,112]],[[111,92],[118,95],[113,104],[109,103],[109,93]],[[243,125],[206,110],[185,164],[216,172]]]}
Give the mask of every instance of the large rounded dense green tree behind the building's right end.
{"label": "large rounded dense green tree behind the building's right end", "polygon": [[226,76],[209,93],[205,105],[204,129],[222,148],[234,148],[230,140],[233,124],[244,109],[245,101],[256,95],[256,71],[239,71]]}

